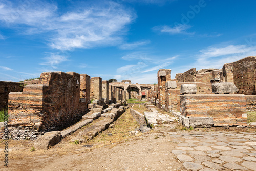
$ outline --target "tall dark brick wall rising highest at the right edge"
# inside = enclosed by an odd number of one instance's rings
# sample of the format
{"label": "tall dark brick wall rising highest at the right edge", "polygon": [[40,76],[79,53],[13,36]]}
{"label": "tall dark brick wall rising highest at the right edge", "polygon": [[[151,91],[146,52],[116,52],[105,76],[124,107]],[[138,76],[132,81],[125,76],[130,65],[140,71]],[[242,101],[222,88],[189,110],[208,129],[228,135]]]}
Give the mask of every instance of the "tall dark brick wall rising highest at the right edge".
{"label": "tall dark brick wall rising highest at the right edge", "polygon": [[233,62],[233,81],[239,94],[256,94],[256,56]]}

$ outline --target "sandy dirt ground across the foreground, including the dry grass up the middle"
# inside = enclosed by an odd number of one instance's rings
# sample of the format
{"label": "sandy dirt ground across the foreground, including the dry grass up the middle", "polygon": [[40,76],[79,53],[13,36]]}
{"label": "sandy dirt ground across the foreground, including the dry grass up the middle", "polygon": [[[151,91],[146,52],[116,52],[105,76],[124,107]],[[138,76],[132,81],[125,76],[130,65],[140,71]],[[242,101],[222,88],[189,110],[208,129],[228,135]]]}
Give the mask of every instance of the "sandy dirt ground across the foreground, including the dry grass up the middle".
{"label": "sandy dirt ground across the foreground, including the dry grass up the middle", "polygon": [[[114,123],[114,127],[100,133],[96,140],[87,144],[69,143],[69,137],[45,151],[30,151],[33,141],[8,141],[8,168],[4,166],[4,142],[0,143],[0,170],[185,170],[182,163],[172,153],[176,142],[170,132],[189,132],[175,122],[155,127],[147,133],[129,135],[137,124],[127,110]],[[126,127],[127,129],[124,129]],[[118,130],[122,127],[122,130]],[[212,128],[193,131],[254,132],[255,128]],[[106,136],[107,133],[113,137]],[[72,135],[71,135],[72,136]],[[117,138],[119,137],[119,138]]]}

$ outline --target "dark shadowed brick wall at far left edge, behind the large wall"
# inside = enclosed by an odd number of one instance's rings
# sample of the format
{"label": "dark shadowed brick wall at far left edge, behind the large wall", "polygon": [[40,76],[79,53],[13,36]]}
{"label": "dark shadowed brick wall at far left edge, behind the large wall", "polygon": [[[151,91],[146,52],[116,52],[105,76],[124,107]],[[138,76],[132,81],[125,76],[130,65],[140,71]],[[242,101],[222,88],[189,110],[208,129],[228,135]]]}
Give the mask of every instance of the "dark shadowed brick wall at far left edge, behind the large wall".
{"label": "dark shadowed brick wall at far left edge, behind the large wall", "polygon": [[22,92],[24,84],[20,82],[0,81],[0,110],[8,106],[8,96],[10,92]]}

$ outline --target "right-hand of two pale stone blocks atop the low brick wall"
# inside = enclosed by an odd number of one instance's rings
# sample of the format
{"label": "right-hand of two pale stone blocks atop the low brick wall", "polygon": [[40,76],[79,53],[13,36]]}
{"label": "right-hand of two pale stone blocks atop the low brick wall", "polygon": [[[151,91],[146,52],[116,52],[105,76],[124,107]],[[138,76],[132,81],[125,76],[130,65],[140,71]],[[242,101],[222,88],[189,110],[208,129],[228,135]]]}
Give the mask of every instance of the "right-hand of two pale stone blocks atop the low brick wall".
{"label": "right-hand of two pale stone blocks atop the low brick wall", "polygon": [[231,82],[222,82],[211,84],[212,93],[234,93],[238,92],[238,88]]}

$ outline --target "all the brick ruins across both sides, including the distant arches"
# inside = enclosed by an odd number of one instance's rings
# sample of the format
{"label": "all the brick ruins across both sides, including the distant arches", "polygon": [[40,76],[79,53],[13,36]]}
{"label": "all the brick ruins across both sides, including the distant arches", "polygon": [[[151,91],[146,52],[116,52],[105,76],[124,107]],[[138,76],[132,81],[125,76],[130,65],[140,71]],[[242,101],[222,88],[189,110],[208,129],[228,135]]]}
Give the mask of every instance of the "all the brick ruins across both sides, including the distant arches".
{"label": "all the brick ruins across both sides, including the distant arches", "polygon": [[[255,72],[255,56],[226,63],[222,70],[192,68],[175,79],[170,69],[160,69],[157,85],[45,72],[24,83],[0,81],[0,108],[8,106],[9,137],[14,140],[35,140],[76,123],[88,111],[92,116],[105,113],[108,104],[130,98],[172,112],[187,127],[246,126],[246,111],[256,109]],[[3,132],[0,137],[4,138]]]}

